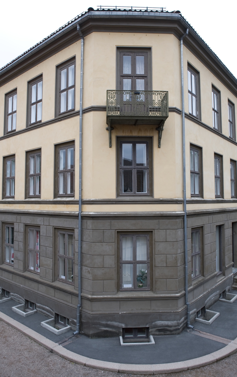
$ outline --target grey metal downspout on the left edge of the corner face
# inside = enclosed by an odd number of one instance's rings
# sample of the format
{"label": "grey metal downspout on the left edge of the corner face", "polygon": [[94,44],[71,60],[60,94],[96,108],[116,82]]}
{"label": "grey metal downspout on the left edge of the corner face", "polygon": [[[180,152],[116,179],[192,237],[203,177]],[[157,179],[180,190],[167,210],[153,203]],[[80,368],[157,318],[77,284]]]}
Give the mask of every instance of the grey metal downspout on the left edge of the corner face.
{"label": "grey metal downspout on the left edge of the corner face", "polygon": [[80,26],[77,31],[81,37],[81,77],[80,77],[80,136],[79,136],[79,213],[78,213],[78,305],[76,308],[76,331],[80,329],[80,310],[81,310],[81,177],[82,177],[82,116],[83,116],[83,57],[84,57],[84,37]]}

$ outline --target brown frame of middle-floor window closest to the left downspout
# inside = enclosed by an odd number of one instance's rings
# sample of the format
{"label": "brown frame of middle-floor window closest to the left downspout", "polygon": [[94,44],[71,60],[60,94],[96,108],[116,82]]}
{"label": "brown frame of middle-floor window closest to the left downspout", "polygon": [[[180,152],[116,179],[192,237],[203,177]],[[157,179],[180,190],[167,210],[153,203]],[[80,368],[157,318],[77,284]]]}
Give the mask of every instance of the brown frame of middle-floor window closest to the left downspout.
{"label": "brown frame of middle-floor window closest to the left downspout", "polygon": [[[74,165],[73,169],[64,169],[60,170],[60,150],[66,149],[66,161],[65,161],[65,167],[67,167],[67,149],[74,148]],[[75,196],[75,141],[69,141],[67,143],[61,143],[55,145],[55,175],[54,175],[54,197],[55,198],[62,198],[62,197],[74,197]],[[69,194],[60,194],[60,174],[64,173],[65,177],[67,176],[67,173],[72,172],[73,173],[73,193]],[[66,178],[65,178],[65,191],[66,191]]]}

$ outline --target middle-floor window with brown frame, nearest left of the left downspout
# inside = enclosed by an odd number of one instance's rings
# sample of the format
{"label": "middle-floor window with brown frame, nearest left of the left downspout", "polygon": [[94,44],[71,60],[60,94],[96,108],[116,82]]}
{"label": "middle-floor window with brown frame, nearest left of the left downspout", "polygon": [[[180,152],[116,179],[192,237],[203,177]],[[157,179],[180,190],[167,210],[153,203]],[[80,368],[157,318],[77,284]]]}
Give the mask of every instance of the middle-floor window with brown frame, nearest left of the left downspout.
{"label": "middle-floor window with brown frame, nearest left of the left downspout", "polygon": [[74,196],[75,192],[75,148],[72,142],[55,147],[55,197]]}

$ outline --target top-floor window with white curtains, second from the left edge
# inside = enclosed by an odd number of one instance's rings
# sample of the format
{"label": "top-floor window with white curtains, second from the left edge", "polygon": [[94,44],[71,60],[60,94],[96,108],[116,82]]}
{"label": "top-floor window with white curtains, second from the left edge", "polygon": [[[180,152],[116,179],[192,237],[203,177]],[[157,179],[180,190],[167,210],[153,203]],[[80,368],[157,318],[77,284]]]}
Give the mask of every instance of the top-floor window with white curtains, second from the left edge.
{"label": "top-floor window with white curtains, second from the left edge", "polygon": [[30,114],[29,123],[34,124],[42,120],[42,77],[30,84]]}

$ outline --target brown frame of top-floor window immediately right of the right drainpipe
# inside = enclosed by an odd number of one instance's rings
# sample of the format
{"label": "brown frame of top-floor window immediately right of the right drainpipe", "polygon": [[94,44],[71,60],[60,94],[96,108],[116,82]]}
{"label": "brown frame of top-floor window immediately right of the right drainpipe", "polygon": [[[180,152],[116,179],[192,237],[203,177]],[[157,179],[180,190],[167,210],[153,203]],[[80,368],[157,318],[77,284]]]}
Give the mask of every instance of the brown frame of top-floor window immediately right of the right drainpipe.
{"label": "brown frame of top-floor window immediately right of the right drainpipe", "polygon": [[[188,112],[191,116],[201,120],[201,104],[200,104],[200,74],[199,72],[188,64],[188,72],[190,72],[191,88],[188,80]],[[195,92],[193,92],[192,75],[195,77]],[[190,112],[190,96],[191,96],[191,112]],[[196,114],[193,111],[193,97],[196,98]]]}

